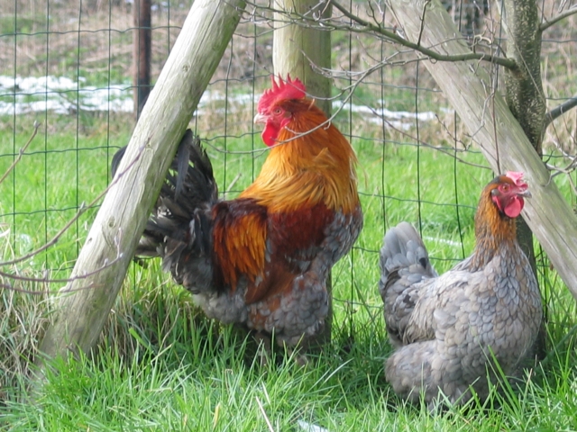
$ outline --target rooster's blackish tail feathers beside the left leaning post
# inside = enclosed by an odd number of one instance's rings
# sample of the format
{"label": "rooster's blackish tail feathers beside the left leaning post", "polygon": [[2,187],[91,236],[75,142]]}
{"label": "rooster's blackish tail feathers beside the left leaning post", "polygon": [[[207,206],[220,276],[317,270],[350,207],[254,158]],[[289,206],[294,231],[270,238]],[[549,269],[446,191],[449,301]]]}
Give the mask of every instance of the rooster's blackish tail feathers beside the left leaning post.
{"label": "rooster's blackish tail feathers beside the left leaning post", "polygon": [[[113,157],[113,175],[124,156],[121,148]],[[172,160],[159,198],[136,255],[163,257],[162,266],[176,266],[183,252],[205,256],[212,250],[210,231],[211,208],[218,199],[213,167],[200,139],[187,130]]]}

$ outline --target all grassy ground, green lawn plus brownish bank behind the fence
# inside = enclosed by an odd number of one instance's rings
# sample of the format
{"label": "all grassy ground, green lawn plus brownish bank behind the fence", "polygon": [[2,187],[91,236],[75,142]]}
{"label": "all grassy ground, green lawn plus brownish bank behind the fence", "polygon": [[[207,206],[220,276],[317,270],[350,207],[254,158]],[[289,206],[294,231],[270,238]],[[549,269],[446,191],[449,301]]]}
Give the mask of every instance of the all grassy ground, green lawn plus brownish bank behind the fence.
{"label": "all grassy ground, green lawn plus brownish bank behind the fence", "polygon": [[[17,21],[10,13],[0,17],[4,75],[12,75],[14,68],[19,76],[76,79],[79,75],[86,79],[83,85],[126,82],[131,74],[133,36],[127,7],[114,7],[110,16],[107,2],[99,10],[85,10],[78,33],[76,6],[50,3],[47,15],[45,4],[20,3]],[[158,76],[178,32],[165,29],[165,23],[181,25],[189,3],[171,7],[170,21],[167,14],[154,15],[158,28],[152,37],[153,76]],[[34,14],[25,12],[32,6]],[[545,5],[544,10],[556,9]],[[241,24],[239,29],[245,37],[235,39],[234,53],[227,49],[211,84],[224,93],[221,80],[232,78],[227,81],[229,95],[252,90],[250,80],[236,83],[235,77],[266,75],[262,66],[271,64],[270,29],[254,30],[252,23]],[[545,94],[561,98],[574,94],[577,83],[572,79],[570,55],[574,44],[557,44],[556,40],[571,39],[574,26],[563,20],[554,29],[547,33],[554,42],[544,42]],[[50,33],[47,40],[47,30],[59,32]],[[14,32],[20,34],[14,36]],[[333,38],[333,65],[343,70],[362,70],[396,49],[344,31],[334,31]],[[453,142],[446,141],[448,135],[466,139],[467,132],[462,127],[453,132],[453,116],[438,109],[447,103],[434,90],[432,78],[422,73],[423,62],[418,75],[417,67],[410,62],[389,65],[367,76],[355,89],[352,102],[378,107],[383,100],[391,111],[437,112],[440,121],[421,123],[419,138],[451,153]],[[348,79],[334,83],[339,89],[349,85]],[[257,79],[256,92],[268,85],[268,78]],[[44,98],[42,94],[28,96],[30,100]],[[0,99],[12,103],[13,96]],[[552,99],[550,104],[557,102]],[[219,112],[225,106],[229,110],[226,123],[222,117],[206,115],[196,124],[198,132],[209,139],[206,145],[221,192],[234,197],[258,174],[266,151],[258,133],[251,135],[251,110],[231,101],[215,101],[206,110]],[[109,119],[105,113],[82,111],[0,117],[0,174],[30,137],[34,120],[42,123],[39,135],[14,174],[0,184],[0,255],[5,259],[41,247],[83,202],[92,202],[105,189],[109,160],[115,147],[128,141],[133,125],[129,115],[112,113]],[[62,284],[0,276],[1,284],[37,293],[0,291],[0,429],[306,431],[298,426],[302,420],[331,432],[577,430],[577,308],[538,245],[548,354],[542,365],[527,372],[519,389],[506,386],[502,393],[491,393],[484,404],[471,401],[435,414],[426,407],[409,406],[393,394],[383,374],[391,348],[377,292],[382,236],[400,220],[417,224],[435,268],[444,272],[472,251],[474,208],[492,175],[488,169],[455,163],[451,154],[439,149],[415,147],[416,140],[408,137],[416,136],[416,131],[404,131],[394,121],[383,130],[362,114],[343,110],[334,122],[353,135],[360,158],[365,223],[352,253],[333,269],[333,342],[322,356],[310,356],[310,363],[301,368],[280,353],[277,363],[261,366],[254,361],[252,339],[206,320],[189,294],[175,286],[158,263],[150,263],[146,269],[129,268],[94,356],[50,362],[44,385],[34,387],[31,362],[50,319],[48,305]],[[574,153],[571,124],[559,119],[545,141],[550,144],[554,139]],[[256,152],[249,153],[252,149]],[[474,151],[458,156],[468,163],[487,165]],[[555,177],[555,182],[574,202],[564,176]],[[47,252],[1,270],[23,277],[68,276],[97,204]]]}

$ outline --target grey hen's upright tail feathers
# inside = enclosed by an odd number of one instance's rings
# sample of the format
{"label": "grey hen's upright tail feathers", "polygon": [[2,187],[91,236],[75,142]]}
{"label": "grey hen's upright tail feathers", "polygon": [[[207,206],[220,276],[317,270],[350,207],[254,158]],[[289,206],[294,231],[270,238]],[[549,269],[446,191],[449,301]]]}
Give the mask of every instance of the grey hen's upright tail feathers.
{"label": "grey hen's upright tail feathers", "polygon": [[399,273],[408,277],[409,283],[417,283],[423,276],[435,277],[425,244],[411,224],[401,222],[387,231],[380,249],[380,273],[381,289],[398,280]]}

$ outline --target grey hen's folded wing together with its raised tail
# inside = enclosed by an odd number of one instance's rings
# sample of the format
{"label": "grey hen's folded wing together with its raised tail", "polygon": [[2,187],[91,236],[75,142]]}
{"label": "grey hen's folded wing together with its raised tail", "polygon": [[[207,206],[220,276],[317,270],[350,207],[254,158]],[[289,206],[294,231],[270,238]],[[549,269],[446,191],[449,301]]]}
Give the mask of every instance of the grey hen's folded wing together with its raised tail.
{"label": "grey hen's folded wing together with its raised tail", "polygon": [[[423,241],[407,222],[387,232],[380,251],[380,295],[389,338],[396,347],[435,338],[460,342],[487,277],[464,260],[437,276]],[[453,340],[445,341],[453,344]]]}

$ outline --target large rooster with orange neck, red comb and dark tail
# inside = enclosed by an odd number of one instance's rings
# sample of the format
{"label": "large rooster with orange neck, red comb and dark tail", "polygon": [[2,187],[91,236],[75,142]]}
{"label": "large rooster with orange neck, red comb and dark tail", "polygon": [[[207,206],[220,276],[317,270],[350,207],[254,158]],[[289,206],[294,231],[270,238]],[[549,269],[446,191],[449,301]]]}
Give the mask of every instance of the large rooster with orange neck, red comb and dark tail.
{"label": "large rooster with orange neck, red comb and dark tail", "polygon": [[161,257],[209,318],[306,347],[324,328],[327,276],[362,229],[357,159],[290,76],[272,77],[254,121],[270,153],[234,200],[218,198],[210,160],[187,131],[136,255]]}

